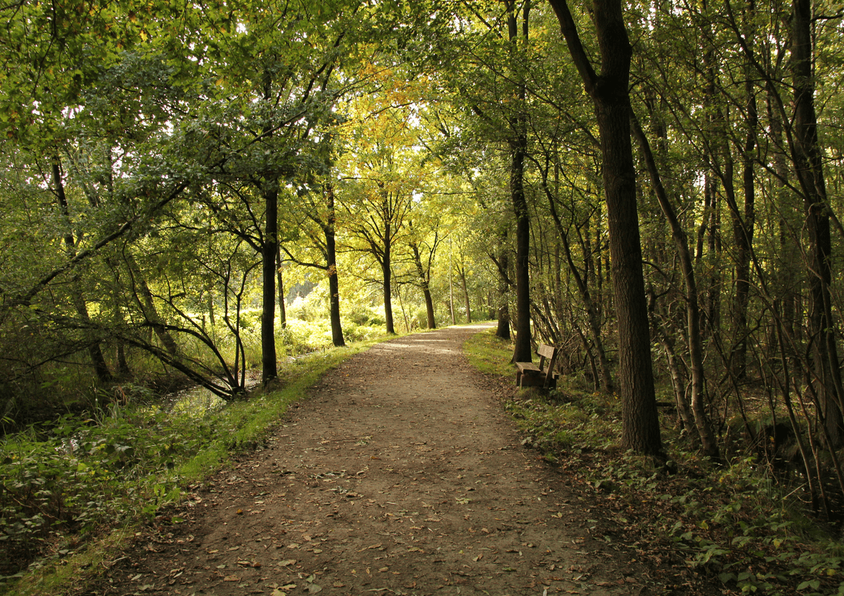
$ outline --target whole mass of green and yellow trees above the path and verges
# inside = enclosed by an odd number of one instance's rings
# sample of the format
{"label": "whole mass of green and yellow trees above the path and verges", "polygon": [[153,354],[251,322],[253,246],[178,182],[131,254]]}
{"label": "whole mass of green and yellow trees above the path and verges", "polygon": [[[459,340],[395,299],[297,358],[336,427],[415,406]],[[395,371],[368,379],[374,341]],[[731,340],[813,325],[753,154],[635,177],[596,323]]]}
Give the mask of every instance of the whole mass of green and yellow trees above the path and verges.
{"label": "whole mass of green and yellow trees above the path and verges", "polygon": [[658,396],[711,458],[787,435],[844,488],[840,4],[0,15],[8,428],[142,372],[268,384],[298,291],[334,345],[491,314],[617,392],[624,447],[663,452]]}

